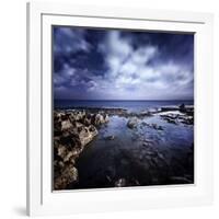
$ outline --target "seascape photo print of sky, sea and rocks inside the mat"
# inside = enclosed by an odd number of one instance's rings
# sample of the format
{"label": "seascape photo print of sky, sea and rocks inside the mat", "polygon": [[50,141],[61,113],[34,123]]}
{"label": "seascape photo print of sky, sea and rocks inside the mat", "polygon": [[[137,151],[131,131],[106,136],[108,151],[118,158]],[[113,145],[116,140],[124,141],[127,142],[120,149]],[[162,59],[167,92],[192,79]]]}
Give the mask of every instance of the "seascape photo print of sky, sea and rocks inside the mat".
{"label": "seascape photo print of sky, sea and rocks inside the mat", "polygon": [[51,37],[53,189],[194,184],[194,34]]}

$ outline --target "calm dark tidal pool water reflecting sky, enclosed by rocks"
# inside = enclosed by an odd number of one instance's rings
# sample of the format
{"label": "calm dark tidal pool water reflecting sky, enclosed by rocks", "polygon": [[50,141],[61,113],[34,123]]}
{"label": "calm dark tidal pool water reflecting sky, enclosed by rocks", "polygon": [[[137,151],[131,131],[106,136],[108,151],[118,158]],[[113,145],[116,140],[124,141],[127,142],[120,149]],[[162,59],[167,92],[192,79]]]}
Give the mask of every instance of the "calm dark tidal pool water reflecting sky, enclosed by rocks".
{"label": "calm dark tidal pool water reflecting sky, enclosed by rocks", "polygon": [[127,122],[111,116],[78,159],[79,182],[68,188],[193,183],[194,126],[170,124],[159,115],[139,119],[134,129]]}

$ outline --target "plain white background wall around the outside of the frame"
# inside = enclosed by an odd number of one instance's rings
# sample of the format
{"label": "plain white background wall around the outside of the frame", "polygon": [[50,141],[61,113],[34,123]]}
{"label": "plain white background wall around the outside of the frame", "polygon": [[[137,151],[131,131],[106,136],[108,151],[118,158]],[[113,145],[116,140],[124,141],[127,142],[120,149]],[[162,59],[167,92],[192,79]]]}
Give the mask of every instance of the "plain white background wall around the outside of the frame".
{"label": "plain white background wall around the outside of the frame", "polygon": [[[54,0],[55,1],[55,0]],[[61,1],[61,0],[59,0]],[[0,1],[0,218],[25,217],[25,0]],[[67,2],[62,0],[61,2]],[[215,13],[215,204],[212,206],[151,209],[59,218],[219,218],[219,1],[218,0],[71,0],[80,4],[145,7]],[[206,72],[210,73],[210,72]],[[214,96],[209,96],[212,99]],[[73,206],[72,206],[73,207]],[[54,217],[57,218],[57,217]]]}

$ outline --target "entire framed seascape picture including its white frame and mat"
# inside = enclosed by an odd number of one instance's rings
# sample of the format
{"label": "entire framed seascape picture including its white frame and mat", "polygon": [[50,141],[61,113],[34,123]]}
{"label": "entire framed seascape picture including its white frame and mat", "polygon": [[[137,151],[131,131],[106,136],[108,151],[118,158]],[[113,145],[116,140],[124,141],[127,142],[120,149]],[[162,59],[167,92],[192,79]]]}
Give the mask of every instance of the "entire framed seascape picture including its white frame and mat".
{"label": "entire framed seascape picture including its white frame and mat", "polygon": [[27,214],[211,200],[212,15],[27,4]]}

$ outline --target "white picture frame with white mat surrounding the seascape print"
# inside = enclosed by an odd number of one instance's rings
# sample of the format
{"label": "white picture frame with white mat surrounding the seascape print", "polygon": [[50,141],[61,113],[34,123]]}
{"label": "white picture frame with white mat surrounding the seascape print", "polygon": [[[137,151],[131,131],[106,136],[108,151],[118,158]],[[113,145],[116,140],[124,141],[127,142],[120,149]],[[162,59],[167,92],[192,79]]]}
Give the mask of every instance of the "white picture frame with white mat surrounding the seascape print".
{"label": "white picture frame with white mat surrounding the seascape print", "polygon": [[[195,184],[51,189],[51,25],[195,33]],[[212,15],[27,3],[27,215],[193,206],[212,201]]]}

